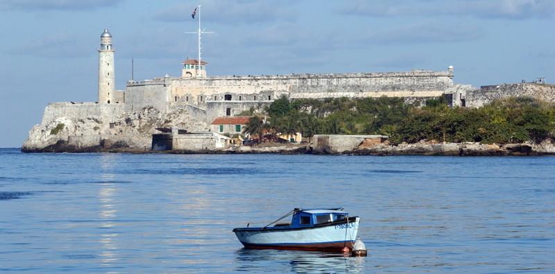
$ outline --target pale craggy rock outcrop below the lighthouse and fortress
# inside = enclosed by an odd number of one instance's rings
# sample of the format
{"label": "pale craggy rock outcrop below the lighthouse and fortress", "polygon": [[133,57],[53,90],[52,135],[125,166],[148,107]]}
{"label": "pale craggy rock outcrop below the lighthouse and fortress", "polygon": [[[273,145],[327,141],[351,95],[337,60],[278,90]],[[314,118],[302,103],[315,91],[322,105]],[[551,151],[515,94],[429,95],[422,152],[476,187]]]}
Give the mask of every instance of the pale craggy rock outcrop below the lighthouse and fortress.
{"label": "pale craggy rock outcrop below the lighthouse and fortress", "polygon": [[121,152],[151,149],[157,127],[187,131],[207,130],[185,109],[161,113],[154,108],[124,112],[113,120],[105,116],[60,116],[29,131],[22,152]]}

